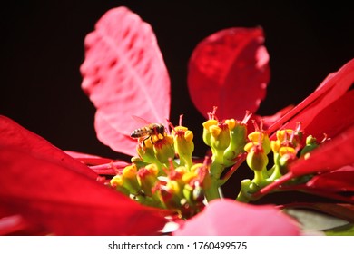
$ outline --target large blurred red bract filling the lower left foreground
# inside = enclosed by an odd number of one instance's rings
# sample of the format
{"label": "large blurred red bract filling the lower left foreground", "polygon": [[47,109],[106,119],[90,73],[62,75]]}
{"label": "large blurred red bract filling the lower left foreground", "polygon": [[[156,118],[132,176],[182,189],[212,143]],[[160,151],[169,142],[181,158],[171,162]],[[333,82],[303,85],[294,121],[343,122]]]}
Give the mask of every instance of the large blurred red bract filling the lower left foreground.
{"label": "large blurred red bract filling the lower left foreground", "polygon": [[165,219],[64,165],[0,146],[0,204],[56,235],[151,235]]}

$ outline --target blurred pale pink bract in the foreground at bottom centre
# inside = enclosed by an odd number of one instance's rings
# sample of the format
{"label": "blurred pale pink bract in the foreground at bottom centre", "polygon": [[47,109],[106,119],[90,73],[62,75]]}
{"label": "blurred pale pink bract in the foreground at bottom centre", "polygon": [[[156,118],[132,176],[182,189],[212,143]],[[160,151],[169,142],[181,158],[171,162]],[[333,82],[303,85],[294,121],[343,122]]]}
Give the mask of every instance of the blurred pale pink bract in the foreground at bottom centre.
{"label": "blurred pale pink bract in the foreground at bottom centre", "polygon": [[201,213],[187,220],[173,235],[182,236],[293,236],[300,235],[295,220],[271,205],[234,200],[211,200]]}

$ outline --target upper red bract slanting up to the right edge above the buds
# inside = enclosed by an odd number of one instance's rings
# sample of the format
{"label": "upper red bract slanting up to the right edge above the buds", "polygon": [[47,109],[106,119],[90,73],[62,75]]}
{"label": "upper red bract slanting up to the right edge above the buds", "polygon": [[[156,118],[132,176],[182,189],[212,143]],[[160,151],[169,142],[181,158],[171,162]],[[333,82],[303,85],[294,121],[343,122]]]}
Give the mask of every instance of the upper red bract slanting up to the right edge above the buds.
{"label": "upper red bract slanting up to the right edge above the buds", "polygon": [[270,126],[268,133],[280,128],[295,129],[297,122],[302,122],[301,128],[307,135],[322,139],[327,133],[329,138],[334,137],[353,124],[354,94],[348,92],[353,83],[354,59],[329,74],[315,92]]}

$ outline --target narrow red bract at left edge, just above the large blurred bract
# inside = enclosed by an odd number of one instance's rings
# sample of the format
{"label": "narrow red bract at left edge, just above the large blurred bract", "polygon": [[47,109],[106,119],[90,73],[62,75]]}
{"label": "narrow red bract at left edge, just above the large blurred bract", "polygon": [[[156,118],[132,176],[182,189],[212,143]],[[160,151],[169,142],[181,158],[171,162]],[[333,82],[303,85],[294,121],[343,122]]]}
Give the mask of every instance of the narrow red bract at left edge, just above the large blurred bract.
{"label": "narrow red bract at left edge, just above the large blurred bract", "polygon": [[92,179],[97,178],[97,174],[87,168],[83,163],[74,160],[71,156],[56,148],[50,142],[34,132],[26,130],[13,120],[0,115],[0,146],[15,147],[27,153],[33,154],[37,158],[57,163],[72,171],[82,173]]}

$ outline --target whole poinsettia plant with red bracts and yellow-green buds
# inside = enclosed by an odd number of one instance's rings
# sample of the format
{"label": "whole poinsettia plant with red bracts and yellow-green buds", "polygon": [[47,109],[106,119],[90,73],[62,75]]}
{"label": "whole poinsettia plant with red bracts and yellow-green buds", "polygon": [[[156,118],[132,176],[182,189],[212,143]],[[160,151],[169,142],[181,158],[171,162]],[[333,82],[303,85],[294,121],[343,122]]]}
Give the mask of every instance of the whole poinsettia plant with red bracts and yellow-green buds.
{"label": "whole poinsettia plant with red bracts and yellow-green buds", "polygon": [[[108,11],[85,38],[82,88],[98,139],[132,160],[62,151],[1,116],[0,234],[304,234],[293,208],[346,221],[325,233],[352,233],[354,60],[300,104],[261,116],[263,43],[261,27],[233,27],[196,46],[187,82],[205,122],[195,137],[182,114],[169,120],[170,79],[152,27],[125,7]],[[195,138],[209,147],[203,158],[193,156]],[[241,165],[254,178],[223,198]],[[327,201],[256,203],[281,191]]]}

